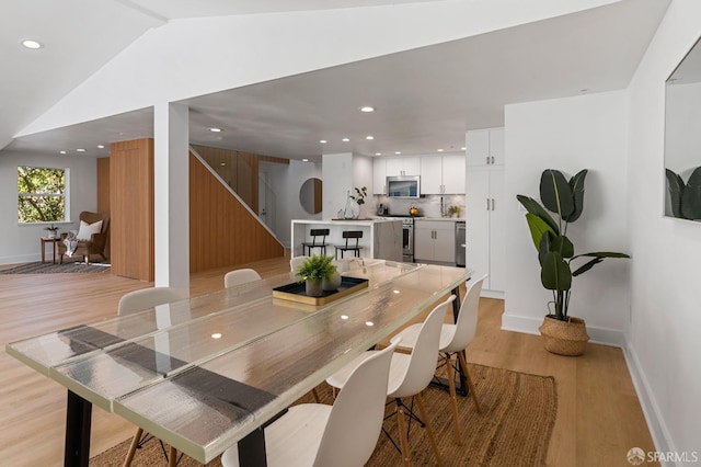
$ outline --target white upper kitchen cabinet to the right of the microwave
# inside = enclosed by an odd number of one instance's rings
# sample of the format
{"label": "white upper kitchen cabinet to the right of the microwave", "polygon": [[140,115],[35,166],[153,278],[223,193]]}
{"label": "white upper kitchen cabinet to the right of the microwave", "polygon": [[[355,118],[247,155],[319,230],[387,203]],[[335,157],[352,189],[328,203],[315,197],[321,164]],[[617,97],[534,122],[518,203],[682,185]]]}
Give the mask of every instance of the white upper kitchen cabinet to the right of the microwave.
{"label": "white upper kitchen cabinet to the right of the microwave", "polygon": [[422,194],[464,193],[464,156],[443,155],[421,157]]}

